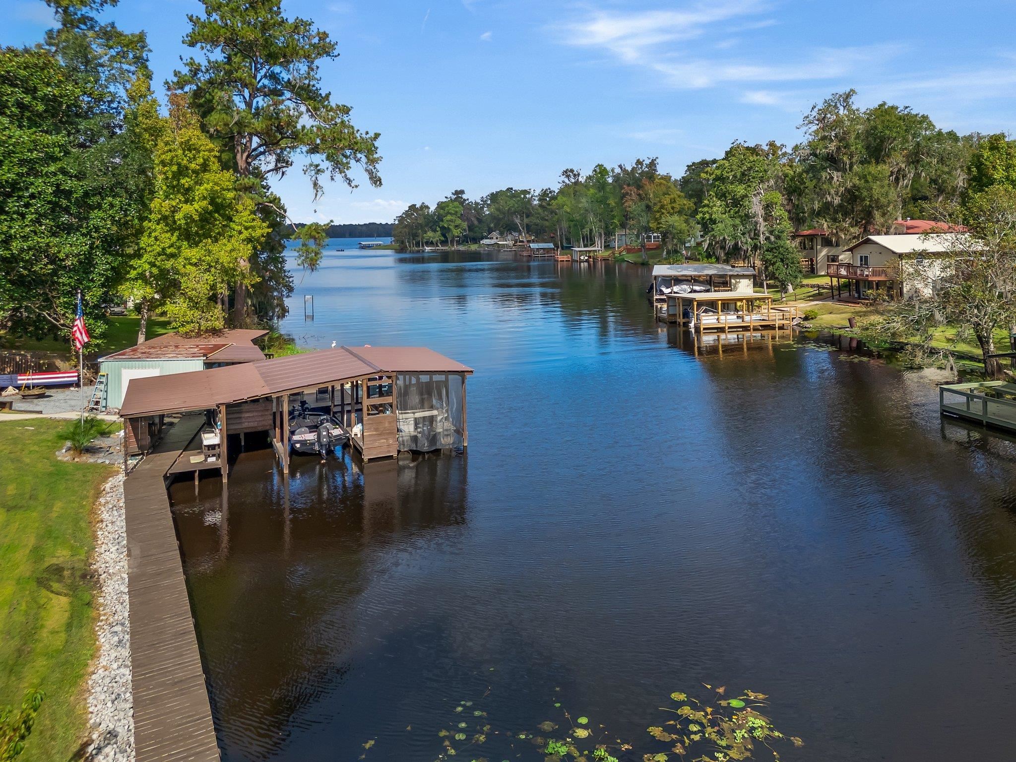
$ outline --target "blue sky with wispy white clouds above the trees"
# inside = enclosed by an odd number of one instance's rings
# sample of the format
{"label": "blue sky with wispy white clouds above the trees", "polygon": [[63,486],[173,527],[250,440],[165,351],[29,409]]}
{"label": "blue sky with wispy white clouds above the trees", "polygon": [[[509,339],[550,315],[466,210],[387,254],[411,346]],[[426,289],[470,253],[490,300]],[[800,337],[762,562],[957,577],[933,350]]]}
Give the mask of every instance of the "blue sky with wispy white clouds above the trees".
{"label": "blue sky with wispy white clouds above the trees", "polygon": [[[4,0],[0,42],[50,25],[42,0]],[[121,0],[111,16],[144,28],[156,82],[186,49],[198,0]],[[300,172],[276,188],[297,219],[389,220],[455,188],[553,186],[659,156],[685,166],[736,139],[792,144],[810,106],[854,87],[959,132],[1016,121],[1011,0],[283,0],[313,18],[341,57],[322,74],[361,129],[381,133],[384,185],[327,188],[313,202]],[[361,178],[362,179],[362,178]]]}

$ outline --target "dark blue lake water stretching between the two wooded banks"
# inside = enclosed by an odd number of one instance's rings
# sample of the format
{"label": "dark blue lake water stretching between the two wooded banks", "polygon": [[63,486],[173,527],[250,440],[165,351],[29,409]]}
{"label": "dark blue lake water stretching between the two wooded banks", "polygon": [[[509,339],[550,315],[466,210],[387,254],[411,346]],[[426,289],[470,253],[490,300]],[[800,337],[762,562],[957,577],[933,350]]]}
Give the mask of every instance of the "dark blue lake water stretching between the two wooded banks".
{"label": "dark blue lake water stretching between the two wooded banks", "polygon": [[1016,756],[1016,447],[920,374],[696,356],[613,263],[345,251],[296,280],[301,343],[474,368],[469,447],[173,487],[225,759],[433,760],[472,711],[456,759],[542,759],[507,732],[568,709],[640,760],[701,683],[769,694],[785,760]]}

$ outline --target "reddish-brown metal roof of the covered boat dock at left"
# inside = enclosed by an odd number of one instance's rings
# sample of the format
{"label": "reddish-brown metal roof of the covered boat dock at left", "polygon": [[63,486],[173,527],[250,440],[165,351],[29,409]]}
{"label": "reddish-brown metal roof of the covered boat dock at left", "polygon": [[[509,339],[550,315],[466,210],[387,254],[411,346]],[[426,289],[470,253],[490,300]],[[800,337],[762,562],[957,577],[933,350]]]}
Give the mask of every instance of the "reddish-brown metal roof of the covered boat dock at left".
{"label": "reddish-brown metal roof of the covered boat dock at left", "polygon": [[419,346],[340,346],[204,371],[135,378],[127,386],[120,415],[136,418],[207,409],[381,373],[412,372],[472,373],[472,369]]}

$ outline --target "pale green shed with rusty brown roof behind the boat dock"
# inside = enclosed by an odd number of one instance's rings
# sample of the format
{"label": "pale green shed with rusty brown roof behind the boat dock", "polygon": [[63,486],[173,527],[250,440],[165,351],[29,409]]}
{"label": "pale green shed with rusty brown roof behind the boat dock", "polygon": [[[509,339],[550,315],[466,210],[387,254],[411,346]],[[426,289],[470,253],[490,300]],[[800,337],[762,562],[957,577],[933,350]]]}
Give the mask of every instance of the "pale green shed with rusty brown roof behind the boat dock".
{"label": "pale green shed with rusty brown roof behind the boat dock", "polygon": [[234,329],[188,337],[166,333],[99,359],[106,374],[106,408],[118,408],[131,381],[264,360],[254,343],[266,330]]}

